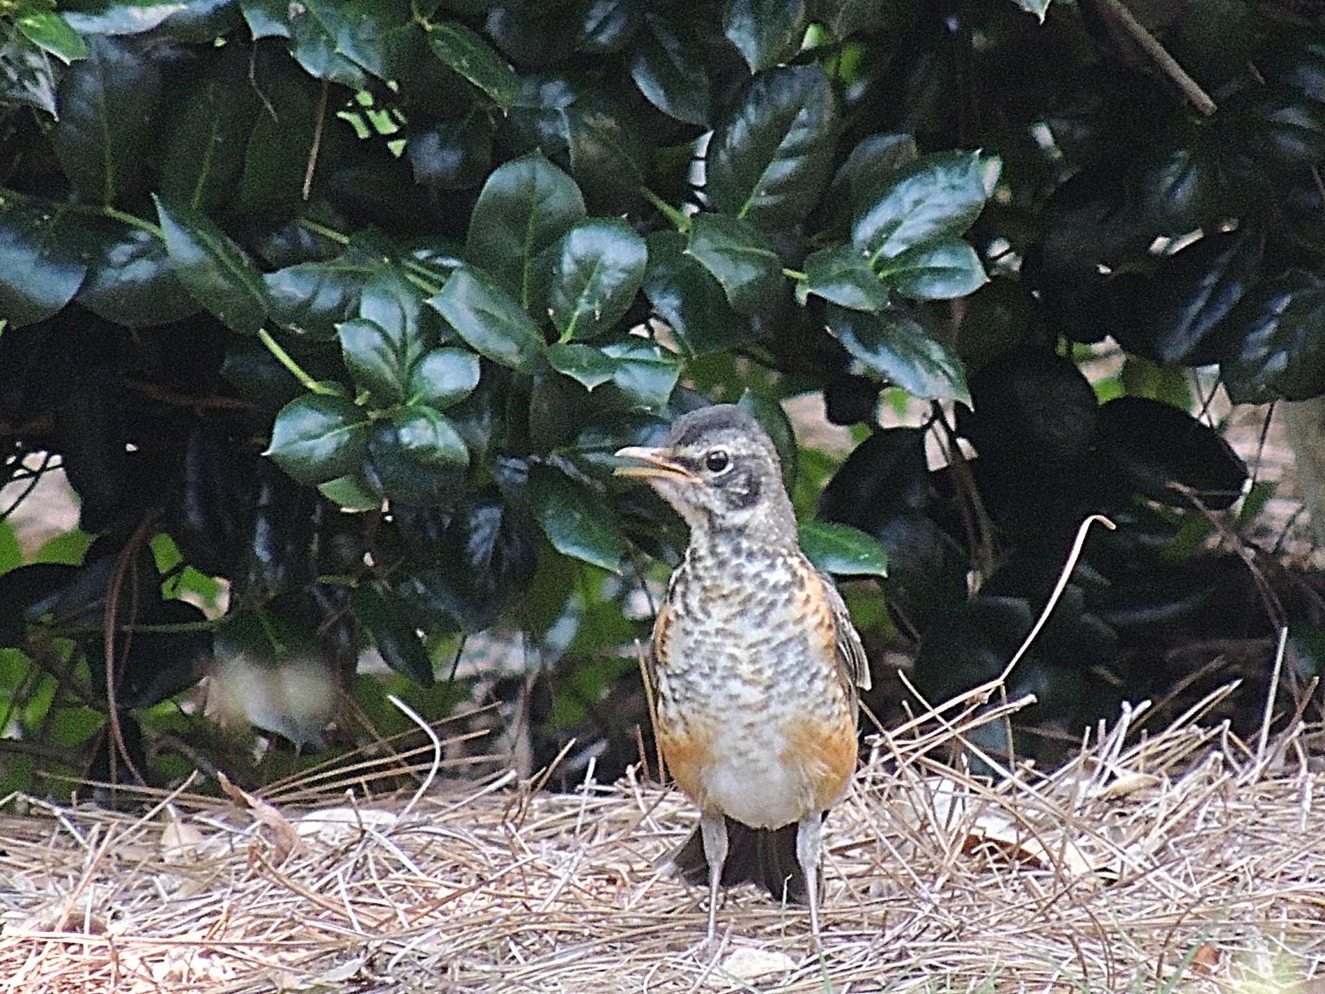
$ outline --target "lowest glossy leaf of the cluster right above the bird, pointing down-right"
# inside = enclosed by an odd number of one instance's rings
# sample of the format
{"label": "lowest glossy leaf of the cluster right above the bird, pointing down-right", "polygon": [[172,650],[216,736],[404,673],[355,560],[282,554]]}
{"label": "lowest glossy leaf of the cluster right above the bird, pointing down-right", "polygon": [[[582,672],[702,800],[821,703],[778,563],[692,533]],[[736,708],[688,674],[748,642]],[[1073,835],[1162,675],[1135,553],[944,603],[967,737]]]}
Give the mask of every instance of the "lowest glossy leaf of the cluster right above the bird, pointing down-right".
{"label": "lowest glossy leaf of the cluster right above the bird, pointing down-right", "polygon": [[828,330],[876,376],[921,400],[970,406],[962,360],[925,331],[909,311],[889,307],[865,314],[829,305]]}

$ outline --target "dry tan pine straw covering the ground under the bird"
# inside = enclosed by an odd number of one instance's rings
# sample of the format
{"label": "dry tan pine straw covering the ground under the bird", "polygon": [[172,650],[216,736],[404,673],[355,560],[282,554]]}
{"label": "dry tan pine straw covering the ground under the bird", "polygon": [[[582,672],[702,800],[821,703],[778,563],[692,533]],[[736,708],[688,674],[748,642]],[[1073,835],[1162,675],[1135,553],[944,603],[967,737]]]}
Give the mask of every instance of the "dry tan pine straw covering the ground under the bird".
{"label": "dry tan pine straw covering the ground under the bird", "polygon": [[749,887],[706,949],[706,895],[653,871],[694,811],[635,777],[30,801],[0,826],[0,991],[1320,994],[1320,729],[1246,744],[1196,724],[1218,697],[1151,736],[1128,708],[1049,774],[973,741],[1015,701],[876,737],[825,827],[822,957]]}

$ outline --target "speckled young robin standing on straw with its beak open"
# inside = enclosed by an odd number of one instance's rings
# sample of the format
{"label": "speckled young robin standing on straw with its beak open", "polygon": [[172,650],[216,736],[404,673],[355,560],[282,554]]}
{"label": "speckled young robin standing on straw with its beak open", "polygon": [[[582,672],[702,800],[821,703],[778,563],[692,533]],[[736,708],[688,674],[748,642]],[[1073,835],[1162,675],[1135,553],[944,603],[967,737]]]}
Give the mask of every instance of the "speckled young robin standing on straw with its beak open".
{"label": "speckled young robin standing on straw with its beak open", "polygon": [[700,824],[672,863],[718,889],[763,884],[810,904],[819,941],[820,826],[856,769],[860,636],[832,580],[796,542],[776,449],[730,404],[678,417],[616,472],[647,480],[690,545],[653,626],[657,738]]}

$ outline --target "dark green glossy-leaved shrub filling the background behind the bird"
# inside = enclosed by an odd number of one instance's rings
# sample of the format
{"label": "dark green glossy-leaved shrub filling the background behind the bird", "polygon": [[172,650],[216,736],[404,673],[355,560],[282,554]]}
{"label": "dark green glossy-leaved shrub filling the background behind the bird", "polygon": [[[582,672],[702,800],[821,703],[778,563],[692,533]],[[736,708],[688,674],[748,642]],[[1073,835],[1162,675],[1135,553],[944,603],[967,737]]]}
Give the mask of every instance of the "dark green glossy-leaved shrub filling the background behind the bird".
{"label": "dark green glossy-leaved shrub filling the background behind the bird", "polygon": [[[574,740],[567,781],[647,761],[632,643],[685,534],[611,453],[709,400],[778,441],[881,716],[999,672],[1093,512],[1018,747],[1199,692],[1196,640],[1259,713],[1277,626],[1318,675],[1320,599],[1238,538],[1273,485],[1211,403],[1325,392],[1320,25],[3,0],[0,510],[61,469],[80,517],[36,555],[0,530],[0,793],[310,762],[319,721],[254,753],[199,720],[236,656],[318,660],[338,749],[407,728],[394,692],[496,704],[530,767]],[[798,451],[807,394],[844,460]]]}

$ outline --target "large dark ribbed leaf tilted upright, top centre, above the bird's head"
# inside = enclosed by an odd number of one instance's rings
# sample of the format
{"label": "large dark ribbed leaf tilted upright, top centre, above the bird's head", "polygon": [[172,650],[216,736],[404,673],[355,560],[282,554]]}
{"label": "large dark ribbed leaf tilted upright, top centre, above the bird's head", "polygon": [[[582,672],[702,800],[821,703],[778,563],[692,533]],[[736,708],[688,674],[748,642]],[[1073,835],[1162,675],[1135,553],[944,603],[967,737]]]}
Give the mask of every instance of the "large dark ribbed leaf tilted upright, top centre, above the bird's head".
{"label": "large dark ribbed leaf tilted upright, top centre, above the bird's head", "polygon": [[828,182],[837,109],[818,65],[770,69],[709,140],[709,207],[779,231],[802,220]]}

